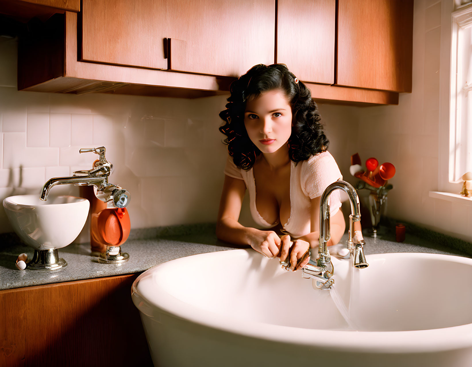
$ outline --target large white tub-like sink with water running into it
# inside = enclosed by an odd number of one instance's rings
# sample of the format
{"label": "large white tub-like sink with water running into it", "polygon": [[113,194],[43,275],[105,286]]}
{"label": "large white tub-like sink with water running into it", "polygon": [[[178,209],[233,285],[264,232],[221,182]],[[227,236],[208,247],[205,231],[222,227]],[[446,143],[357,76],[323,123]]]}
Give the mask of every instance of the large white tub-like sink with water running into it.
{"label": "large white tub-like sink with water running into it", "polygon": [[254,250],[175,259],[134,282],[156,366],[472,366],[472,259],[332,257],[330,291]]}

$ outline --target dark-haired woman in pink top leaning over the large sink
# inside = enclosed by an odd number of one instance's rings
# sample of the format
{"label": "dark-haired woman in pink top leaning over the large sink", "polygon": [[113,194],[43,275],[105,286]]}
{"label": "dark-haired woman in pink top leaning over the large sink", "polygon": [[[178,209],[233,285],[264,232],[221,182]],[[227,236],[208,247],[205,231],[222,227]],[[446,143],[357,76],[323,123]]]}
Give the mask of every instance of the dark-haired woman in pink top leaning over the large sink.
{"label": "dark-haired woman in pink top leaning over the large sink", "polygon": [[[320,196],[342,179],[327,150],[320,114],[310,90],[284,64],[256,65],[230,86],[226,122],[228,158],[216,234],[220,240],[246,244],[283,261],[289,249],[292,270],[309,247],[319,244]],[[262,228],[238,223],[246,189],[251,215]],[[256,195],[257,192],[257,195]],[[328,246],[345,231],[339,190],[329,196]],[[280,234],[283,235],[279,235]]]}

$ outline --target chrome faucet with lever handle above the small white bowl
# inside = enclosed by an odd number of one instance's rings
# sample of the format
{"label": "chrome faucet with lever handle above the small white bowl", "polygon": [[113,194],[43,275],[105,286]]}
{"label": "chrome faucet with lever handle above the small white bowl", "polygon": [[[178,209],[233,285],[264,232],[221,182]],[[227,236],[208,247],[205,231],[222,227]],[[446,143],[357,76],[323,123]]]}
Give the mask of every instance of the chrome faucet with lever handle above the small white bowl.
{"label": "chrome faucet with lever handle above the small white bowl", "polygon": [[92,169],[88,171],[76,171],[71,177],[54,177],[48,180],[42,187],[40,199],[47,200],[51,187],[55,185],[93,185],[96,188],[97,198],[109,203],[109,207],[125,208],[130,202],[130,194],[127,190],[108,183],[113,165],[105,158],[105,151],[105,147],[80,149],[79,153],[93,152],[100,158],[93,162]]}

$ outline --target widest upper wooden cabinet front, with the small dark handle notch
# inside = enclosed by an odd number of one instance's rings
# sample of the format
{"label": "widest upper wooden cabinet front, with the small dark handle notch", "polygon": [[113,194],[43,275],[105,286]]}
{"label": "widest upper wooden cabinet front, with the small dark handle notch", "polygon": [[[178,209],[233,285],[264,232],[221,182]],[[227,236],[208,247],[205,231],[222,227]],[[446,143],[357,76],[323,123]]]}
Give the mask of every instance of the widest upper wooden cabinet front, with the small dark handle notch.
{"label": "widest upper wooden cabinet front, with the small dark handle notch", "polygon": [[274,63],[275,0],[83,0],[79,28],[82,61],[232,77]]}

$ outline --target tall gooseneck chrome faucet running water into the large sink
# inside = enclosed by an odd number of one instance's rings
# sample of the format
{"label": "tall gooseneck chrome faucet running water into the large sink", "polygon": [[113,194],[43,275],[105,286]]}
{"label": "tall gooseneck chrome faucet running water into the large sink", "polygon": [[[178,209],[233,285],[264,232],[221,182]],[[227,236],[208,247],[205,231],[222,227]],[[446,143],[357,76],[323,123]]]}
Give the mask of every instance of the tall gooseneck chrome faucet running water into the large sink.
{"label": "tall gooseneck chrome faucet running water into the large sink", "polygon": [[[328,245],[330,229],[329,229],[329,205],[328,198],[331,192],[334,190],[343,190],[349,196],[349,201],[351,202],[351,214],[349,215],[349,240],[347,248],[350,252],[350,256],[353,256],[353,266],[357,268],[368,267],[364,256],[363,245],[365,242],[363,240],[357,240],[354,243],[354,222],[361,220],[360,208],[359,208],[359,198],[354,187],[346,181],[338,180],[330,184],[326,190],[321,195],[320,200],[320,245],[318,247],[318,259],[316,263],[310,259],[305,267],[302,269],[302,276],[305,279],[312,278],[315,280],[315,286],[319,289],[329,289],[334,284],[334,266],[329,256]],[[311,256],[310,250],[298,260],[298,263],[302,263],[307,256]],[[287,256],[287,259],[289,256]],[[288,260],[282,262],[282,266],[286,269],[290,268],[290,263]]]}

